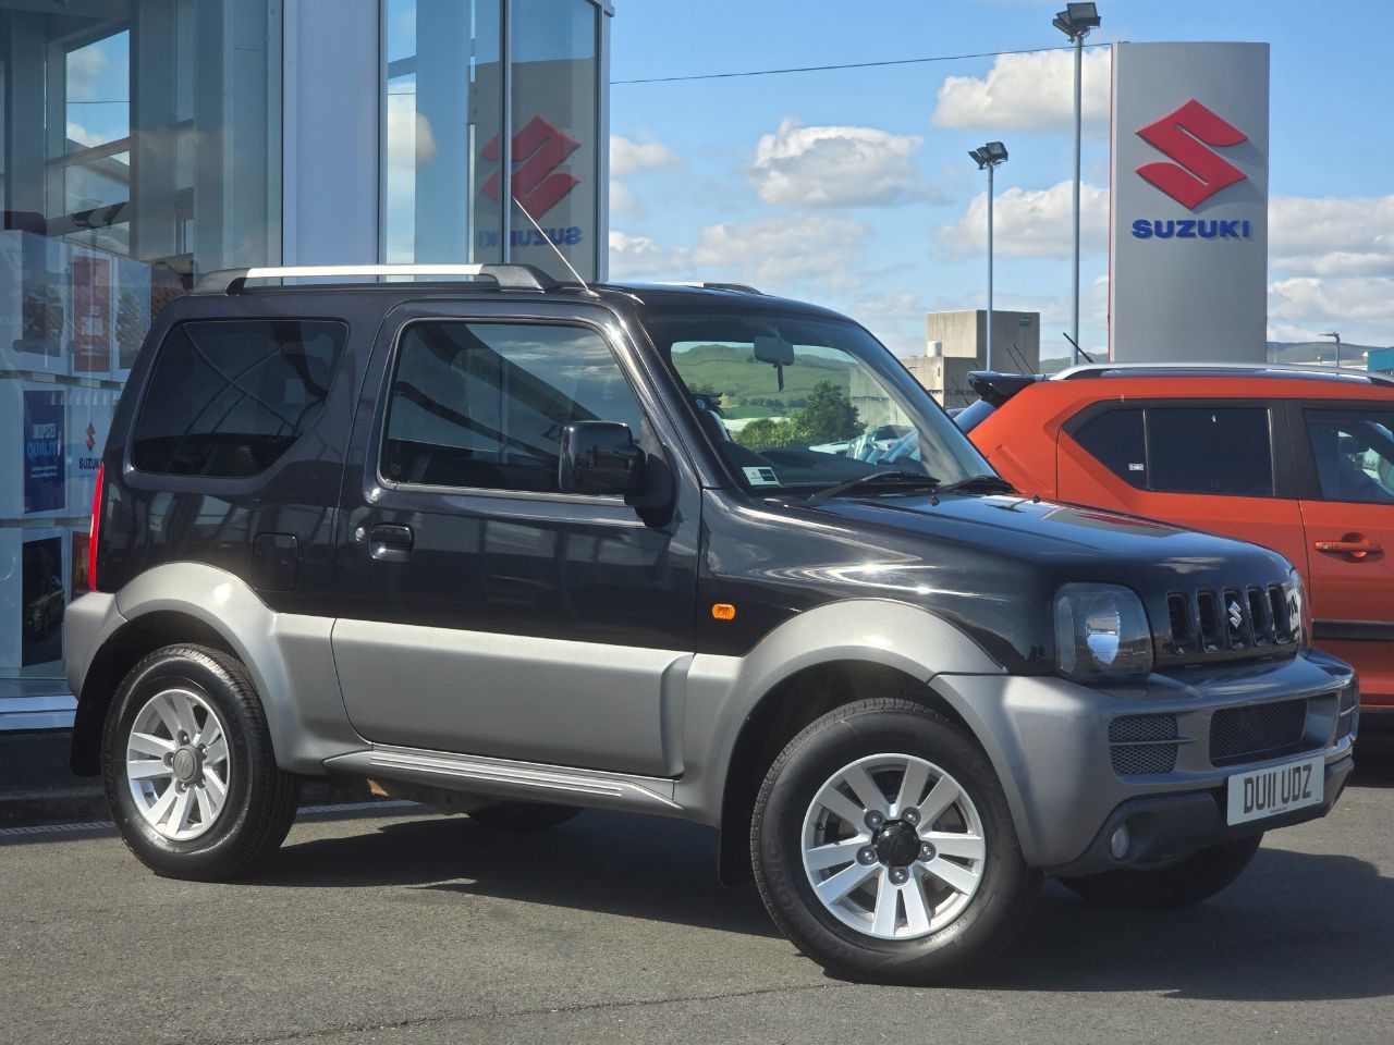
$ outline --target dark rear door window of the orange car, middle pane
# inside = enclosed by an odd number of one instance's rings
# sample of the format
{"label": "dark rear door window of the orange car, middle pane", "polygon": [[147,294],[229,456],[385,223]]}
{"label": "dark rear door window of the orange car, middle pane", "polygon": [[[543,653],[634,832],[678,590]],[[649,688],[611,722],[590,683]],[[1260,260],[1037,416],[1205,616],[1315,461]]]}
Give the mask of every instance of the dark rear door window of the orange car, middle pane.
{"label": "dark rear door window of the orange car, middle pane", "polygon": [[1149,489],[1273,496],[1267,407],[1149,407]]}

